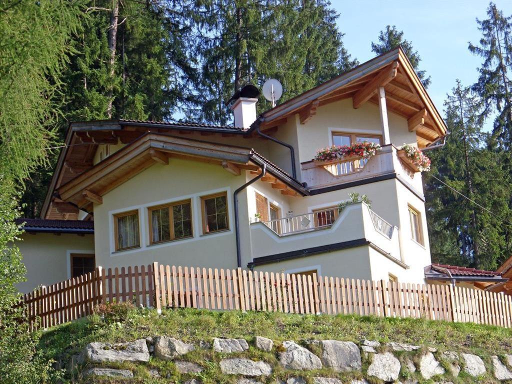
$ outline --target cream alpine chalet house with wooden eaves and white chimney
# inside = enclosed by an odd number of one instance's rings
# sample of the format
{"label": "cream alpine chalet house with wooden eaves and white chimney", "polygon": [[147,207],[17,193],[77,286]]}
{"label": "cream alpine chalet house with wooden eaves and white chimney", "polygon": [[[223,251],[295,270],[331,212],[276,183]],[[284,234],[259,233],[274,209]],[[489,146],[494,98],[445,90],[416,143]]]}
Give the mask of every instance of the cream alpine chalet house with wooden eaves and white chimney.
{"label": "cream alpine chalet house with wooden eaves and white chimney", "polygon": [[259,117],[258,94],[233,96],[234,126],[70,124],[41,219],[25,224],[20,288],[154,261],[424,283],[416,148],[447,129],[403,51]]}

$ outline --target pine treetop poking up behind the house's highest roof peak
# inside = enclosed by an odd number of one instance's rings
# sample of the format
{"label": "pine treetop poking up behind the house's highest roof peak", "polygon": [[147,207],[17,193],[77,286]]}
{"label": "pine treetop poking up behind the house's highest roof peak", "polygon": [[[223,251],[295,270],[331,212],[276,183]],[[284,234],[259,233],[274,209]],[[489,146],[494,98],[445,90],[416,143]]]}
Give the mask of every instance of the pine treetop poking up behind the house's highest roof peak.
{"label": "pine treetop poking up behind the house's highest roof peak", "polygon": [[411,61],[411,65],[418,74],[418,77],[421,79],[423,86],[428,88],[431,82],[430,76],[426,77],[426,71],[419,69],[421,57],[418,51],[414,50],[412,42],[403,38],[403,31],[398,31],[396,26],[391,27],[388,25],[385,31],[380,31],[378,42],[372,42],[372,52],[375,52],[377,55],[381,55],[397,47],[402,47],[409,61]]}

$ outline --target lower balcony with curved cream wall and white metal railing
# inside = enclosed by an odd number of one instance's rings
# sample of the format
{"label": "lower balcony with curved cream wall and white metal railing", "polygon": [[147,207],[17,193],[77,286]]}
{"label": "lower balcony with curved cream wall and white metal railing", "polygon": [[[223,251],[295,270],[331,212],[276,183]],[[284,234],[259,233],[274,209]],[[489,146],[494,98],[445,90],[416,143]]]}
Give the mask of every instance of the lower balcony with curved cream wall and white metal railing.
{"label": "lower balcony with curved cream wall and white metal railing", "polygon": [[398,228],[365,203],[250,224],[252,258],[365,240],[401,263]]}

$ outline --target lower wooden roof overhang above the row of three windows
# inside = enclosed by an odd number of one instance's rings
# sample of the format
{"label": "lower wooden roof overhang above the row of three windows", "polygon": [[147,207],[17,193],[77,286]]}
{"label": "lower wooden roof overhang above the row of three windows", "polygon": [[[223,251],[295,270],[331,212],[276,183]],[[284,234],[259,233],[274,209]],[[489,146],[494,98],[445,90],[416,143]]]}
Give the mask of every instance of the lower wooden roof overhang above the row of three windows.
{"label": "lower wooden roof overhang above the row of three windows", "polygon": [[97,163],[74,179],[59,186],[55,204],[63,209],[92,210],[101,204],[102,196],[133,178],[155,163],[167,164],[169,158],[221,165],[228,172],[240,175],[241,169],[258,172],[263,164],[274,184],[284,185],[285,195],[306,195],[308,191],[274,164],[251,148],[184,139],[168,134],[146,133],[110,157]]}

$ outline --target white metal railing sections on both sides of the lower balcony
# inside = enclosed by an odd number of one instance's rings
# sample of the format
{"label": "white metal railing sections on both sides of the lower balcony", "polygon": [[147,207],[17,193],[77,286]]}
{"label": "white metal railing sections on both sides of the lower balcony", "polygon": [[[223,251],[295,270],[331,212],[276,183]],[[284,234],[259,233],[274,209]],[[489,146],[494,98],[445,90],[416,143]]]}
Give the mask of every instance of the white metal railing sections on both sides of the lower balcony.
{"label": "white metal railing sections on both sides of the lower balcony", "polygon": [[[370,218],[372,219],[375,230],[387,238],[393,237],[394,226],[382,219],[373,210],[368,208]],[[301,233],[313,231],[316,229],[329,228],[338,218],[339,208],[328,208],[309,212],[307,214],[291,216],[281,219],[274,219],[263,222],[267,227],[272,229],[280,236],[286,236],[292,233]]]}

